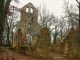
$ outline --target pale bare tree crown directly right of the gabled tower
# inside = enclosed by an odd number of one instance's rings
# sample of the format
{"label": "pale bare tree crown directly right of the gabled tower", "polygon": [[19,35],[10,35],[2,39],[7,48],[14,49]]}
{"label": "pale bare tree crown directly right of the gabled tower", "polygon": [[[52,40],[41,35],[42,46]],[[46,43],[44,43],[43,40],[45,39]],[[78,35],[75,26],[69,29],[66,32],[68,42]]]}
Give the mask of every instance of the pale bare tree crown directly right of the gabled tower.
{"label": "pale bare tree crown directly right of the gabled tower", "polygon": [[38,13],[39,13],[39,24],[42,27],[47,27],[50,29],[50,26],[52,25],[52,20],[55,18],[53,14],[50,14],[49,11],[46,9],[46,6],[43,5],[43,7],[38,7]]}

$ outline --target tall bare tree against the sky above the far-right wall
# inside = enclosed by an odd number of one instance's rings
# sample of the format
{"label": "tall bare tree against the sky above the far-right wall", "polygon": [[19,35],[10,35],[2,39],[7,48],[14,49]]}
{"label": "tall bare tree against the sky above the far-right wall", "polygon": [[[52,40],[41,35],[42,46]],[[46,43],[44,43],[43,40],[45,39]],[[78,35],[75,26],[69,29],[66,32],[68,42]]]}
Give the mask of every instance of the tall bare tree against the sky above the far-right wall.
{"label": "tall bare tree against the sky above the far-right wall", "polygon": [[75,23],[76,23],[76,19],[75,19],[76,8],[72,4],[69,4],[69,2],[64,0],[63,9],[64,9],[64,14],[65,14],[64,18],[66,18],[67,20],[68,29],[74,28]]}

